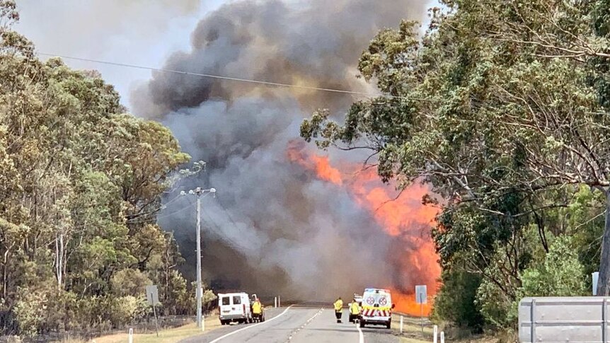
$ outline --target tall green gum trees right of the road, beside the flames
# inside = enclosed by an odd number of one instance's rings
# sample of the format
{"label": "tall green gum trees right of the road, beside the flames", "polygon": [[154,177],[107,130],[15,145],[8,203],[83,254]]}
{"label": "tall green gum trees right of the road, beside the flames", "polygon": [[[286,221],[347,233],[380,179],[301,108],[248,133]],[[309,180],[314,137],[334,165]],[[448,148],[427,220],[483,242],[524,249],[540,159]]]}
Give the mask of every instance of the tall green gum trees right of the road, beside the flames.
{"label": "tall green gum trees right of the road, beside the flames", "polygon": [[[610,241],[599,239],[610,213],[610,6],[442,4],[422,37],[403,22],[363,52],[359,71],[384,96],[354,103],[343,124],[318,110],[301,136],[321,149],[371,149],[379,177],[398,187],[427,182],[444,198],[432,233],[443,281],[466,287],[460,272],[480,275],[480,315],[492,328],[513,327],[522,287],[578,293],[582,285],[556,269],[584,280],[610,266],[600,256]],[[567,245],[570,262],[553,262]],[[435,311],[451,318],[441,300]]]}

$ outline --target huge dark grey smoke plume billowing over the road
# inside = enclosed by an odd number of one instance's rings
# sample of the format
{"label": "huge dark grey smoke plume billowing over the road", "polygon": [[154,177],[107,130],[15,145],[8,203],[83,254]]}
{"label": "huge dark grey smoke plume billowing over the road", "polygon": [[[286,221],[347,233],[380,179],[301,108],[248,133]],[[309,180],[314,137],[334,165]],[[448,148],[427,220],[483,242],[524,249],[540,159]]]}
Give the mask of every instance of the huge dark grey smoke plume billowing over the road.
{"label": "huge dark grey smoke plume billowing over the road", "polygon": [[[233,2],[204,18],[192,33],[192,50],[174,54],[166,68],[372,91],[355,78],[359,54],[379,29],[424,13],[425,1]],[[388,258],[396,243],[372,214],[344,188],[287,158],[304,117],[317,107],[340,112],[355,98],[179,74],[155,74],[132,98],[139,115],[167,124],[185,151],[208,163],[205,174],[184,185],[218,190],[218,199],[203,199],[207,279],[220,288],[301,298],[393,284],[392,272],[402,268]],[[190,266],[192,212],[161,219]],[[415,274],[395,286],[415,283]]]}

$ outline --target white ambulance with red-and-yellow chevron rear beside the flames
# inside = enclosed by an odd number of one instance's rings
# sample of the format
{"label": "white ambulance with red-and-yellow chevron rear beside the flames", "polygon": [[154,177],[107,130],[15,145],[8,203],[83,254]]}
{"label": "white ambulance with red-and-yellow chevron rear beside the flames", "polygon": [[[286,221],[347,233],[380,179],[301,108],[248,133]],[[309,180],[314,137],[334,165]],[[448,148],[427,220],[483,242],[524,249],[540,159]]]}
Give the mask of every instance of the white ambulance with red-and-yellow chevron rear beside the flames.
{"label": "white ambulance with red-and-yellow chevron rear beside the flames", "polygon": [[387,289],[364,289],[362,293],[362,315],[360,327],[364,325],[384,325],[388,329],[392,324],[392,295]]}

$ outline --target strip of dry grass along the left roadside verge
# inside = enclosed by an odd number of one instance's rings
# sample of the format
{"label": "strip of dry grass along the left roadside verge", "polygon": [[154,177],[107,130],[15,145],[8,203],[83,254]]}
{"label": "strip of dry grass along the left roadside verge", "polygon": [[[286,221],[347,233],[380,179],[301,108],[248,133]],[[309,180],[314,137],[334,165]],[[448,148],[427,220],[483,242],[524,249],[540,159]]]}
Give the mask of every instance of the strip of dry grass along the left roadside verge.
{"label": "strip of dry grass along the left roadside verge", "polygon": [[[210,330],[214,330],[217,327],[220,327],[220,321],[218,320],[218,316],[210,316],[205,318],[205,331],[208,332]],[[198,328],[194,322],[190,324],[183,325],[180,327],[175,327],[173,329],[168,330],[160,330],[159,337],[156,336],[156,333],[153,331],[151,333],[137,333],[134,334],[134,342],[137,343],[175,343],[180,341],[181,339],[185,339],[188,337],[192,337],[195,335],[200,335],[202,333],[201,329]],[[102,337],[96,337],[89,341],[84,341],[81,339],[64,339],[62,341],[57,341],[55,343],[125,343],[129,340],[129,335],[127,333],[115,334],[115,335],[106,335]]]}

